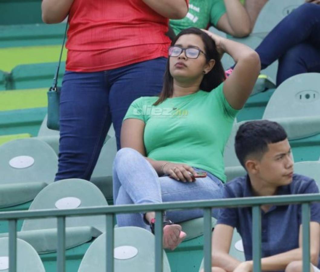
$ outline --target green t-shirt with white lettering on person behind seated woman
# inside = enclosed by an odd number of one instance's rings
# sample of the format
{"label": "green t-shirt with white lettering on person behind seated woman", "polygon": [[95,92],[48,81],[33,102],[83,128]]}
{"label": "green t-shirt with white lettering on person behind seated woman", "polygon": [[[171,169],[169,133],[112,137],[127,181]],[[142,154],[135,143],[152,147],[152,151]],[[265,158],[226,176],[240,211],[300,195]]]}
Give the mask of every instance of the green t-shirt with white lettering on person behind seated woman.
{"label": "green t-shirt with white lettering on person behind seated woman", "polygon": [[206,29],[209,24],[216,26],[225,13],[226,7],[223,0],[190,0],[186,17],[180,20],[170,20],[169,24],[177,35],[188,27]]}

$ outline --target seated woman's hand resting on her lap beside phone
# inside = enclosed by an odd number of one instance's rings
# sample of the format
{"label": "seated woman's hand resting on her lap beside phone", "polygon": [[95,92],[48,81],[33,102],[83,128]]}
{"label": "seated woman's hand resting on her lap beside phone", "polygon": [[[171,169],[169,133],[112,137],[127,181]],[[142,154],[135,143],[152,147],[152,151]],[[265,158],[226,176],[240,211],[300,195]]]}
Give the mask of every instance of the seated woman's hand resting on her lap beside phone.
{"label": "seated woman's hand resting on her lap beside phone", "polygon": [[[182,182],[194,182],[196,171],[186,164],[169,162],[163,167],[163,173]],[[190,174],[191,173],[191,174]]]}

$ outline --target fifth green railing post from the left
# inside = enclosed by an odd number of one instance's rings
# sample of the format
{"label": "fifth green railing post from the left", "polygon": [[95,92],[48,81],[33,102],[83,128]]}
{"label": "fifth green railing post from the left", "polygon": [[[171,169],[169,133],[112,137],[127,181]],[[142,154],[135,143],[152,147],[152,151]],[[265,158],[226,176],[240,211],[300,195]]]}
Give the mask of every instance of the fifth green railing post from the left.
{"label": "fifth green railing post from the left", "polygon": [[211,236],[212,236],[212,223],[211,223],[211,208],[205,208],[204,215],[204,272],[211,272]]}

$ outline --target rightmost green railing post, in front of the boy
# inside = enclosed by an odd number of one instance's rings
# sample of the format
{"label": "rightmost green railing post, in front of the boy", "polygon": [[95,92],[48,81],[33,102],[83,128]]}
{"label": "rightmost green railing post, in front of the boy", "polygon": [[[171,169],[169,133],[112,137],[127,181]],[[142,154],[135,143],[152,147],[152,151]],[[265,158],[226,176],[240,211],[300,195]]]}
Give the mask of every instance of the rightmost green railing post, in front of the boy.
{"label": "rightmost green railing post, in front of the boy", "polygon": [[310,204],[302,204],[302,267],[303,272],[310,271]]}

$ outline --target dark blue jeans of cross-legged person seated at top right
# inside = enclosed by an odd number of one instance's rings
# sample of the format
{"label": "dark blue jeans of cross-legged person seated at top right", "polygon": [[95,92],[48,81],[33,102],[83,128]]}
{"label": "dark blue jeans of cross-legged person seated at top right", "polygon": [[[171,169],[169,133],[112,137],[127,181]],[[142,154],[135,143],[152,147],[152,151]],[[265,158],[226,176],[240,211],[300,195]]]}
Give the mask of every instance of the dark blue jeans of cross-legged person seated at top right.
{"label": "dark blue jeans of cross-legged person seated at top right", "polygon": [[279,60],[276,85],[302,73],[320,73],[320,5],[302,4],[286,16],[256,49],[261,70]]}

